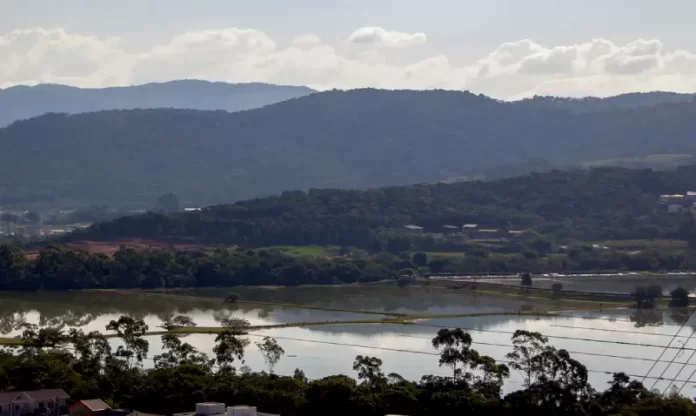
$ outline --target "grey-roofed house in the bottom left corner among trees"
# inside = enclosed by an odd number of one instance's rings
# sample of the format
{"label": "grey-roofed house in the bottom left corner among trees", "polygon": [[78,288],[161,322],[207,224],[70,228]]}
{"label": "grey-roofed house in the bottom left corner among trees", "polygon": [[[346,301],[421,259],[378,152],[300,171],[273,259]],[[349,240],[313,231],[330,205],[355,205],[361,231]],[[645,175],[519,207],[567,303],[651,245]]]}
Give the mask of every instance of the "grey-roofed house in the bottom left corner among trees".
{"label": "grey-roofed house in the bottom left corner among trees", "polygon": [[0,393],[0,416],[22,416],[27,413],[62,415],[70,395],[62,389]]}

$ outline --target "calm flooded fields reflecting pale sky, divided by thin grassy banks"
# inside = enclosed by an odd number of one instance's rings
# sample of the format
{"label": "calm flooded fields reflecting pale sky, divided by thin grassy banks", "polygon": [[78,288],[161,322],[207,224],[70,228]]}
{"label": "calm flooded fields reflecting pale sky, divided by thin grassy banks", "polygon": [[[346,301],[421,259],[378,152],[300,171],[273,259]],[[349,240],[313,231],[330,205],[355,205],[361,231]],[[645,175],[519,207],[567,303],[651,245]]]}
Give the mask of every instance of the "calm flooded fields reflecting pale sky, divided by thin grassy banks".
{"label": "calm flooded fields reflecting pale sky, divided by thin grassy banks", "polygon": [[[597,389],[606,386],[612,372],[623,371],[642,377],[649,371],[652,378],[647,378],[645,383],[648,387],[655,383],[655,388],[661,390],[671,383],[660,381],[659,378],[685,381],[696,372],[696,359],[692,360],[696,354],[696,339],[690,338],[696,329],[696,319],[686,322],[690,315],[689,311],[684,310],[565,311],[559,312],[560,316],[529,317],[514,313],[523,307],[530,307],[523,298],[470,296],[435,288],[356,286],[235,289],[235,292],[246,300],[355,312],[253,303],[231,305],[221,299],[227,291],[196,292],[195,295],[200,297],[107,292],[4,294],[0,296],[0,336],[18,335],[18,324],[22,322],[64,329],[79,327],[84,331],[105,331],[110,320],[124,314],[143,318],[151,329],[156,330],[163,319],[178,314],[190,316],[199,326],[216,327],[225,317],[247,319],[252,325],[274,325],[380,317],[360,311],[420,316],[509,311],[512,313],[507,316],[431,319],[423,316],[424,319],[410,325],[333,324],[252,330],[248,335],[251,344],[246,351],[245,365],[253,370],[265,368],[254,342],[264,336],[272,336],[286,351],[286,356],[276,368],[280,374],[292,374],[296,368],[300,368],[313,379],[332,374],[354,375],[352,363],[355,356],[361,354],[381,358],[386,373],[397,372],[408,379],[417,380],[424,374],[448,375],[446,368],[438,366],[431,340],[443,327],[461,327],[471,333],[474,348],[502,362],[505,362],[505,356],[511,350],[511,337],[516,330],[541,332],[549,337],[551,344],[568,349],[573,358],[588,367],[590,381]],[[179,295],[184,295],[184,292]],[[144,365],[152,366],[152,357],[161,353],[161,341],[157,336],[147,338],[150,351]],[[200,351],[212,354],[214,335],[192,334],[186,336],[185,340]],[[120,343],[118,339],[111,342],[114,345]],[[673,348],[665,350],[666,346]],[[653,366],[658,358],[659,362]],[[674,362],[668,365],[672,359]],[[695,364],[687,364],[690,362]],[[520,375],[513,371],[506,389],[519,388],[520,382]],[[678,388],[682,385],[686,395],[696,395],[692,383],[677,382]]]}

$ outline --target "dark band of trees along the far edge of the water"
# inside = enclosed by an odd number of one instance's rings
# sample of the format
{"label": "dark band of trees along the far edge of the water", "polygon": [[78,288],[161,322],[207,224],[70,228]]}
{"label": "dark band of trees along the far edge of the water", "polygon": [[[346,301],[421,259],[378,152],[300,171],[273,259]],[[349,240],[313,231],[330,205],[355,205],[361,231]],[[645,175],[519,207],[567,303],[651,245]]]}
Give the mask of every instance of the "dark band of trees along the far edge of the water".
{"label": "dark band of trees along the far edge of the water", "polygon": [[[490,255],[473,252],[460,257],[408,252],[394,255],[341,250],[336,256],[289,255],[280,249],[216,249],[213,252],[121,248],[113,257],[49,246],[29,259],[20,249],[0,245],[0,290],[75,290],[93,288],[180,288],[338,283],[397,279],[413,283],[416,274],[523,273],[572,271],[659,271],[694,268],[696,257],[647,251],[625,254],[580,247],[566,254],[538,256]],[[531,280],[523,284],[531,286]]]}

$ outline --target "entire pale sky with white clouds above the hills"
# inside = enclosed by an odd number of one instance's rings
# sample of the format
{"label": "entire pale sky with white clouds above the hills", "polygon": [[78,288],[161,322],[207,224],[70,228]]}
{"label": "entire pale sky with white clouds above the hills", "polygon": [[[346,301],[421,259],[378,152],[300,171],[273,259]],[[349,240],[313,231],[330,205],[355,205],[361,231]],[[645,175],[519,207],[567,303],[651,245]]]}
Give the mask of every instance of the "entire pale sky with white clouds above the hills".
{"label": "entire pale sky with white clouds above the hills", "polygon": [[0,0],[0,88],[696,92],[694,0]]}

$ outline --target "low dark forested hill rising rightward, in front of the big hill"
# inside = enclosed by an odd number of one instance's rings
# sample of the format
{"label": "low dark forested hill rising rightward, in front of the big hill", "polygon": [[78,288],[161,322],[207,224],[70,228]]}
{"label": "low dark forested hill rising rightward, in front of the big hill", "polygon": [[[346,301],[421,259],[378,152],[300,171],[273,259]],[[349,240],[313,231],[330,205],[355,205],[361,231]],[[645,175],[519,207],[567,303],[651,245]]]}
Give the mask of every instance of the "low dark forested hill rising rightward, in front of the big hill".
{"label": "low dark forested hill rising rightward, in front of the big hill", "polygon": [[[552,171],[491,182],[367,191],[310,190],[218,205],[202,212],[146,214],[97,224],[70,239],[190,238],[247,246],[373,247],[379,233],[416,224],[533,229],[567,239],[696,237],[693,221],[658,207],[662,193],[696,189],[696,166],[672,172],[622,168]],[[383,238],[382,238],[383,240]]]}

